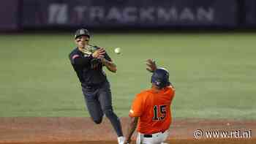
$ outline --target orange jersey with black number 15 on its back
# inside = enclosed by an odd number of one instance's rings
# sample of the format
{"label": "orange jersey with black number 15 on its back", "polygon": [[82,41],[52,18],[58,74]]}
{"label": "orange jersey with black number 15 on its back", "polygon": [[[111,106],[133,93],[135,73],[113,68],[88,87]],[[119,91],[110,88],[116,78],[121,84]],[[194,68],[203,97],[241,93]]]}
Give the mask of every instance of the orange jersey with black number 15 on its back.
{"label": "orange jersey with black number 15 on its back", "polygon": [[130,117],[139,117],[138,132],[154,134],[169,129],[171,124],[170,104],[175,89],[172,86],[162,88],[159,92],[149,89],[137,94],[129,110]]}

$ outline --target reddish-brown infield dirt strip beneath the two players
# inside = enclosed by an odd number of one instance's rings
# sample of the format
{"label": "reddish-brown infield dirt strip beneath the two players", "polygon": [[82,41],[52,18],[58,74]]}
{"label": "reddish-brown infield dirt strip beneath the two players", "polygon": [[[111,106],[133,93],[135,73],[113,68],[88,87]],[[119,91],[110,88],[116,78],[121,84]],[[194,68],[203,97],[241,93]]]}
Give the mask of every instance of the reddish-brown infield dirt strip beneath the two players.
{"label": "reddish-brown infield dirt strip beneath the two players", "polygon": [[[124,133],[128,118],[121,118]],[[248,138],[195,139],[197,129],[207,131],[249,131]],[[256,121],[232,119],[173,118],[167,143],[256,143]],[[135,140],[135,134],[133,137]],[[90,118],[0,118],[0,143],[117,143],[108,119],[94,124]]]}

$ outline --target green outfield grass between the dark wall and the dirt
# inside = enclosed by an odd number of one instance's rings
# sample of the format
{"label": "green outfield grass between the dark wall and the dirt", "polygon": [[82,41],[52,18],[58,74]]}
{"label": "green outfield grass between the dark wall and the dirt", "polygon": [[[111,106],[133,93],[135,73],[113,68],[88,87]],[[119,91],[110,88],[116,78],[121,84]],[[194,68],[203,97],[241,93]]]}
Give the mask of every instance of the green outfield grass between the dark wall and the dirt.
{"label": "green outfield grass between the dark wall and the dirt", "polygon": [[[72,34],[0,35],[0,116],[89,116],[68,54]],[[256,118],[256,34],[94,34],[118,66],[113,107],[149,88],[145,60],[170,71],[178,118]],[[113,53],[120,47],[121,55]]]}

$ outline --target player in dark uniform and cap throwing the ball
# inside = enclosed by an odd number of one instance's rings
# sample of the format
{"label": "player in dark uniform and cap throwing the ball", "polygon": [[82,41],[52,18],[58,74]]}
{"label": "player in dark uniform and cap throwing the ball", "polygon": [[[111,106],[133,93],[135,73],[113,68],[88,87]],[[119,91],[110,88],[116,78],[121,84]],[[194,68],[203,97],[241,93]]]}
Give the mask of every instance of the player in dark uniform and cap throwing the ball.
{"label": "player in dark uniform and cap throwing the ball", "polygon": [[113,112],[110,83],[102,67],[116,72],[116,65],[104,48],[89,45],[90,34],[86,29],[75,32],[77,48],[69,54],[69,60],[80,80],[83,96],[92,120],[102,122],[105,114],[118,135],[118,143],[124,143],[124,136],[119,118]]}

